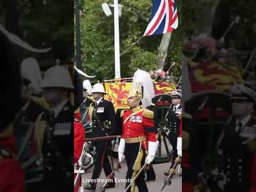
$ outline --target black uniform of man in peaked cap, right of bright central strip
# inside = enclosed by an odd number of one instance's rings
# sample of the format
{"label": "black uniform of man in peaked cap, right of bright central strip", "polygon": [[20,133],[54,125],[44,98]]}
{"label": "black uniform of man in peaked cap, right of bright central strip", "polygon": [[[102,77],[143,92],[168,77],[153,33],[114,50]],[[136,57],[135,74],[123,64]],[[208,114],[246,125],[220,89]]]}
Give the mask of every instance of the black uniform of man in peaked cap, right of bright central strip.
{"label": "black uniform of man in peaked cap, right of bright central strip", "polygon": [[169,129],[169,141],[172,145],[173,149],[173,159],[172,163],[174,163],[175,158],[178,157],[177,150],[177,139],[180,134],[180,119],[179,114],[181,114],[182,106],[179,105],[177,109],[174,110],[174,105],[169,108],[169,113],[167,115],[167,129]]}

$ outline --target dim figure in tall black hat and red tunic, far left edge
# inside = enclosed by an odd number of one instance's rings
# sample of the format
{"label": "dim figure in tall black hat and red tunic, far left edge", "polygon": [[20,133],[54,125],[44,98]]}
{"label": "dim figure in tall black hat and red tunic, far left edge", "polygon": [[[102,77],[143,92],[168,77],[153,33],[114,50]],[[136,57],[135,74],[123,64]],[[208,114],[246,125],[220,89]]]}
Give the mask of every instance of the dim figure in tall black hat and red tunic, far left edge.
{"label": "dim figure in tall black hat and red tunic, far left edge", "polygon": [[0,107],[1,119],[3,119],[0,125],[0,191],[24,192],[25,174],[20,163],[15,159],[17,150],[12,127],[12,121],[20,106],[20,66],[9,40],[2,32],[0,32],[0,44],[2,61]]}

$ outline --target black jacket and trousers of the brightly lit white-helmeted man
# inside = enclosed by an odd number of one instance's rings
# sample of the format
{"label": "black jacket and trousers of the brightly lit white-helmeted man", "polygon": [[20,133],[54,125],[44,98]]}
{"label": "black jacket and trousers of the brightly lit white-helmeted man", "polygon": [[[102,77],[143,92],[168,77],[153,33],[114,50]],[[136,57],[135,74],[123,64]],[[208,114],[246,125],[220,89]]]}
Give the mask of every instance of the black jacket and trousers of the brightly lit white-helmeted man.
{"label": "black jacket and trousers of the brightly lit white-helmeted man", "polygon": [[[105,137],[107,135],[116,134],[116,116],[113,103],[102,98],[99,105],[97,105],[96,102],[93,102],[91,108],[92,107],[92,137]],[[103,123],[106,121],[110,122],[110,130],[106,129],[106,127],[103,125]],[[97,156],[94,163],[92,179],[97,179],[100,176],[102,168],[106,176],[112,172],[107,154],[107,149],[109,149],[111,145],[109,141],[98,141],[93,142],[93,144],[96,147]],[[90,183],[90,185],[92,188],[95,188],[97,183]]]}

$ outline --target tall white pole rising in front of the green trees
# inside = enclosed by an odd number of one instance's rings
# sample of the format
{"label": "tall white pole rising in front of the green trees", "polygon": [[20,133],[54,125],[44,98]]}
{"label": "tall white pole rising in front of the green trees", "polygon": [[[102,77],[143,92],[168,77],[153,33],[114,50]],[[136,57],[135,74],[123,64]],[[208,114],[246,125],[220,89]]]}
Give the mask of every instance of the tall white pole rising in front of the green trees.
{"label": "tall white pole rising in front of the green trees", "polygon": [[119,15],[118,0],[114,0],[114,31],[115,31],[115,79],[121,78],[120,74],[120,48],[119,48]]}

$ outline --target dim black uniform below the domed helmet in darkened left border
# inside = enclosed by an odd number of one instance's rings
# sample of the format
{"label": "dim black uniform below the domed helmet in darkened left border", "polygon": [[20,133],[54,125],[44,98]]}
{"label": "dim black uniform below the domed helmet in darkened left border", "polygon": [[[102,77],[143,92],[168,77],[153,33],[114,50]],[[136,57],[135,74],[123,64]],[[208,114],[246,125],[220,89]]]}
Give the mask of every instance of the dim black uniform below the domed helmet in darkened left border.
{"label": "dim black uniform below the domed helmet in darkened left border", "polygon": [[74,107],[70,101],[57,117],[44,113],[47,122],[43,138],[44,191],[73,191],[74,186]]}

